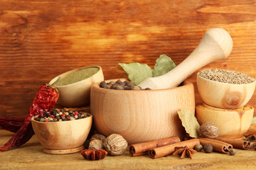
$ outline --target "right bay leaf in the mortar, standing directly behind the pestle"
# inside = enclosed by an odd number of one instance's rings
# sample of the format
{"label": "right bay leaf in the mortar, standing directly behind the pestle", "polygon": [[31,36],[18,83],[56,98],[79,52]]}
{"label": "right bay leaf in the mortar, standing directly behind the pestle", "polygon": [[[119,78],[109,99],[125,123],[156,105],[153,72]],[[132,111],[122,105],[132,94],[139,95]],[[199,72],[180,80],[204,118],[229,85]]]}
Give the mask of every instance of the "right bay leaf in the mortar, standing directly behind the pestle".
{"label": "right bay leaf in the mortar, standing directly behind the pestle", "polygon": [[176,67],[176,64],[174,64],[170,57],[167,55],[160,55],[156,60],[156,64],[153,69],[153,77],[159,77],[166,74],[166,72],[171,71],[174,67]]}

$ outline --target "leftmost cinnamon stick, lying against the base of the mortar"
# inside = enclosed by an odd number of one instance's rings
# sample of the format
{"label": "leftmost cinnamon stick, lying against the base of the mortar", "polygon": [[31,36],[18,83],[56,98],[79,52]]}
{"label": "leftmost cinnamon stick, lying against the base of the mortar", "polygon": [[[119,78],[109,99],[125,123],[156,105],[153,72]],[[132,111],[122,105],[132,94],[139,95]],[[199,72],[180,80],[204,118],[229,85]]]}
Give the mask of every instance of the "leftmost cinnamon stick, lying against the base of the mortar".
{"label": "leftmost cinnamon stick, lying against the base of the mortar", "polygon": [[176,142],[181,142],[181,140],[179,137],[174,136],[174,137],[164,138],[161,140],[154,140],[150,142],[143,142],[143,143],[138,143],[134,145],[129,145],[129,153],[132,155],[132,157],[137,157],[144,154],[148,154],[149,149],[170,145]]}

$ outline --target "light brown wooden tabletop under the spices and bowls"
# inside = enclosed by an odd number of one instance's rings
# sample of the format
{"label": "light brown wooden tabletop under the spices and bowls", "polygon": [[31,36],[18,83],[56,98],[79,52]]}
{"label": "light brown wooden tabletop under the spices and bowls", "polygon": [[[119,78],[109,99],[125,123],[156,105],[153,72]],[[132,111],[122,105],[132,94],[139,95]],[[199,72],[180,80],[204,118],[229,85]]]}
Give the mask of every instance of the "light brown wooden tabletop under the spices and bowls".
{"label": "light brown wooden tabletop under the spices and bowls", "polygon": [[[0,130],[0,145],[12,133]],[[107,156],[100,161],[89,161],[80,152],[75,154],[45,154],[42,145],[33,136],[23,147],[0,152],[0,169],[255,169],[256,151],[237,149],[235,156],[213,152],[197,152],[193,159],[167,156],[151,159],[148,156]]]}

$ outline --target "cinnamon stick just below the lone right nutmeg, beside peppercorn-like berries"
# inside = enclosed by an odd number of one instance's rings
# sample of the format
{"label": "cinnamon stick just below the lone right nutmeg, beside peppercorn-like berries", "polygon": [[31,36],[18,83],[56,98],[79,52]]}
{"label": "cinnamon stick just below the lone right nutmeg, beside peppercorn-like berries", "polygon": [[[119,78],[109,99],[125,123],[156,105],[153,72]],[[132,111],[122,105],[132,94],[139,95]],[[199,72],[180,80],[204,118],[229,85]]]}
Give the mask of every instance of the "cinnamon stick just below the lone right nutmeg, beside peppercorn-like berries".
{"label": "cinnamon stick just below the lone right nutmeg, beside peppercorn-like berries", "polygon": [[198,140],[200,140],[201,145],[204,146],[204,145],[210,144],[213,146],[214,151],[224,153],[224,154],[227,154],[229,150],[233,148],[232,145],[226,142],[222,142],[220,140],[212,140],[212,139],[203,138],[203,137],[198,137]]}

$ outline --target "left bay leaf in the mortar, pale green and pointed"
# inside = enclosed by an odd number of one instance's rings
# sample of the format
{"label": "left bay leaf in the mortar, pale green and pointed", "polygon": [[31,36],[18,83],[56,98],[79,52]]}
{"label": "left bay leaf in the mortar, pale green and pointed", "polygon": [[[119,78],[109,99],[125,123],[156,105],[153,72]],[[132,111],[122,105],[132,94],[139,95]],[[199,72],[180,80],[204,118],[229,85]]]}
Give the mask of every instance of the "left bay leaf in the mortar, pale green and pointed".
{"label": "left bay leaf in the mortar, pale green and pointed", "polygon": [[119,65],[127,72],[128,79],[134,81],[137,85],[144,81],[144,79],[153,77],[152,69],[147,64],[134,62],[129,64],[119,63]]}

